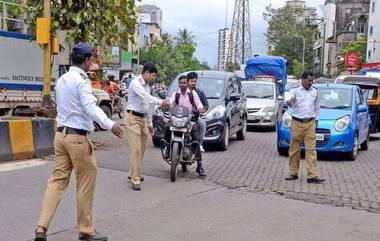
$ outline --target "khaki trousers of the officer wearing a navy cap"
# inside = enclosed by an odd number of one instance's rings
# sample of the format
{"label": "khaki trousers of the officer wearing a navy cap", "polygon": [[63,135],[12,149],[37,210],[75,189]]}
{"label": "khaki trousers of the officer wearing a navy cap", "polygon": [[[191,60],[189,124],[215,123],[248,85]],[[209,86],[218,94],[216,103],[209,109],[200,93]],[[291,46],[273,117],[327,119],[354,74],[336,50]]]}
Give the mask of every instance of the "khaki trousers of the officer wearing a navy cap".
{"label": "khaki trousers of the officer wearing a navy cap", "polygon": [[55,164],[47,184],[38,225],[49,227],[58,203],[69,185],[74,169],[77,191],[78,231],[94,235],[92,206],[97,166],[91,140],[82,135],[57,132],[54,139]]}

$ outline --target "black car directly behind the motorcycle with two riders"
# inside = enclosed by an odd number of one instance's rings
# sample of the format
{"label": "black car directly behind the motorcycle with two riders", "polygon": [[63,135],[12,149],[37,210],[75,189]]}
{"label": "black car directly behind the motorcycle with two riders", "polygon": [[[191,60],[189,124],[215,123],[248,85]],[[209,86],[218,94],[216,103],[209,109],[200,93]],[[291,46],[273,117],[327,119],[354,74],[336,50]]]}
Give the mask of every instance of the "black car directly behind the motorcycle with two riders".
{"label": "black car directly behind the motorcycle with two riders", "polygon": [[[217,143],[222,150],[227,150],[229,139],[236,134],[238,140],[244,140],[247,131],[246,98],[242,92],[241,82],[233,73],[223,71],[195,71],[198,74],[198,88],[203,90],[209,102],[209,110],[204,118],[207,124],[204,143]],[[187,75],[188,72],[181,75]],[[169,86],[166,95],[169,99],[178,91],[178,77]],[[160,146],[164,138],[163,113],[156,108],[153,114],[153,126],[156,132],[153,144]]]}

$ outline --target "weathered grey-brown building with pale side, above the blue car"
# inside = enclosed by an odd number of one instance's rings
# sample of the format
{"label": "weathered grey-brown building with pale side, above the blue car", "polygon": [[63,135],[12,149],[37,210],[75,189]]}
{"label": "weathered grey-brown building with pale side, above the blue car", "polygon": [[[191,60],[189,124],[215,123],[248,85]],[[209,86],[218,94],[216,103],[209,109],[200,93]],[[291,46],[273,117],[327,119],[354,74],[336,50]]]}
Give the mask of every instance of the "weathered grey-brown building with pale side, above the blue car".
{"label": "weathered grey-brown building with pale side, above the blue car", "polygon": [[367,34],[370,0],[326,0],[314,45],[318,72],[338,75],[342,50],[350,41]]}

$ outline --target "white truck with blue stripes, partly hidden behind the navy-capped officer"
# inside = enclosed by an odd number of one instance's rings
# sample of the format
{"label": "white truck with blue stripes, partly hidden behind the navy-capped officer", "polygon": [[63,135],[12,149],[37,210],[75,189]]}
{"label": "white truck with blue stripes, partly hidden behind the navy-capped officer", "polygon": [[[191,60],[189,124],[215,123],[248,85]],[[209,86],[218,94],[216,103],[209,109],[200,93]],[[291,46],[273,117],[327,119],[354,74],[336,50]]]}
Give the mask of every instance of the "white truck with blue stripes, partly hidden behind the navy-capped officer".
{"label": "white truck with blue stripes, partly hidden behind the navy-capped officer", "polygon": [[[0,117],[33,116],[43,96],[43,49],[34,36],[0,31]],[[52,65],[51,97],[55,101],[55,81],[59,68]],[[93,89],[97,104],[112,116],[112,101],[100,89]]]}

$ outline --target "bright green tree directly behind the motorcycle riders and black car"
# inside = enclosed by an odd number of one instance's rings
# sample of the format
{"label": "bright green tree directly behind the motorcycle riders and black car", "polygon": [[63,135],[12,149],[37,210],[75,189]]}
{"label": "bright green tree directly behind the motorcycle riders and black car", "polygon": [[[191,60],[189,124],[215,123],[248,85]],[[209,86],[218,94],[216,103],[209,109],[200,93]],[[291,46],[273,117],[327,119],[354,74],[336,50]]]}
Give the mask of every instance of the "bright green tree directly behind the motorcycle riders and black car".
{"label": "bright green tree directly behind the motorcycle riders and black car", "polygon": [[155,40],[151,47],[140,49],[140,63],[154,63],[158,68],[156,81],[168,85],[182,72],[205,69],[194,58],[195,50],[195,44],[191,42],[176,41],[174,44],[172,36],[166,33],[161,40]]}

